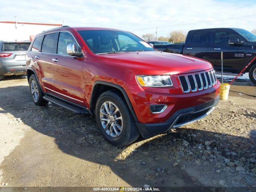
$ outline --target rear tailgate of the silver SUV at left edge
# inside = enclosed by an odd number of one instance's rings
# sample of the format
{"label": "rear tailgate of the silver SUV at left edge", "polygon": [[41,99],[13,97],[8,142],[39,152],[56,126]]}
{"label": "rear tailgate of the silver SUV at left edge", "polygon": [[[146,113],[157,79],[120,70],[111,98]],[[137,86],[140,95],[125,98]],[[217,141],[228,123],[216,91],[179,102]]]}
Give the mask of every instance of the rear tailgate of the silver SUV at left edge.
{"label": "rear tailgate of the silver SUV at left edge", "polygon": [[[30,42],[6,42],[2,45],[2,54],[8,54],[4,57],[4,64],[7,67],[26,66],[26,53]],[[10,69],[12,70],[12,69]],[[24,70],[26,72],[26,70]]]}

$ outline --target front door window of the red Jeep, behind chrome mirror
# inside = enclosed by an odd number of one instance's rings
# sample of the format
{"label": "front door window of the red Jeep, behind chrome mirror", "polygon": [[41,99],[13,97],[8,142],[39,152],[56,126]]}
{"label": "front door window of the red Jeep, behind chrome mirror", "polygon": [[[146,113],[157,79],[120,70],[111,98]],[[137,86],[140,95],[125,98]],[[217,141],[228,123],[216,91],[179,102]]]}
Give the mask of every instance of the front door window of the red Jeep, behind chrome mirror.
{"label": "front door window of the red Jeep, behind chrome mirror", "polygon": [[60,32],[57,53],[61,55],[68,55],[67,45],[72,43],[76,44],[77,48],[79,48],[78,44],[76,43],[76,40],[70,33]]}

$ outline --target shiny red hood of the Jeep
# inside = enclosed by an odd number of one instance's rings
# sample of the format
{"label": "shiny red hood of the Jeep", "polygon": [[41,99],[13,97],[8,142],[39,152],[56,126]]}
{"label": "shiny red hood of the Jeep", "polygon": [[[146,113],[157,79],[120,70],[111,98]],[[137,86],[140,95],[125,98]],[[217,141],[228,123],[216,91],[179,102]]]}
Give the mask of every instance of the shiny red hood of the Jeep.
{"label": "shiny red hood of the Jeep", "polygon": [[184,74],[212,68],[205,60],[160,51],[102,54],[98,58],[107,63],[137,68],[145,75]]}

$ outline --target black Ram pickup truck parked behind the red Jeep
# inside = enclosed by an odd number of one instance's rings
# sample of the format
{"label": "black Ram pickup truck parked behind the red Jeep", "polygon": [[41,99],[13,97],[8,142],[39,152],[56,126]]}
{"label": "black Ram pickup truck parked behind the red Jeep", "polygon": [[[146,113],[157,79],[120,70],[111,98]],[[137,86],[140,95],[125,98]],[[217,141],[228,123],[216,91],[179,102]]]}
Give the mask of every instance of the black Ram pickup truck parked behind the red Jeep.
{"label": "black Ram pickup truck parked behind the red Jeep", "polygon": [[[238,28],[213,28],[191,30],[184,44],[154,45],[159,51],[190,55],[212,63],[218,74],[238,74],[256,56],[256,35]],[[256,61],[244,73],[249,72],[250,80],[256,84]]]}

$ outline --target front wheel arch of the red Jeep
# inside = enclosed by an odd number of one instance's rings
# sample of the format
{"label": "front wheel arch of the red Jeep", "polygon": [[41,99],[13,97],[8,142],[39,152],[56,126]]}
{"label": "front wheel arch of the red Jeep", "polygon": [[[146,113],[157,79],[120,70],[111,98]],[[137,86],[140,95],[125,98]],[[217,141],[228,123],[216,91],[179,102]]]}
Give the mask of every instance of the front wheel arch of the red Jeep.
{"label": "front wheel arch of the red Jeep", "polygon": [[92,114],[94,114],[95,111],[95,107],[96,107],[96,102],[100,96],[100,94],[102,94],[103,92],[106,92],[108,90],[113,90],[115,91],[115,93],[117,93],[121,98],[124,99],[124,101],[126,102],[135,122],[138,122],[138,118],[132,108],[132,104],[128,98],[128,95],[126,94],[124,88],[122,88],[121,86],[117,85],[117,84],[113,84],[110,82],[104,82],[104,81],[96,81],[94,82],[94,86],[92,88],[92,95],[91,95],[91,99],[90,99],[90,112]]}

